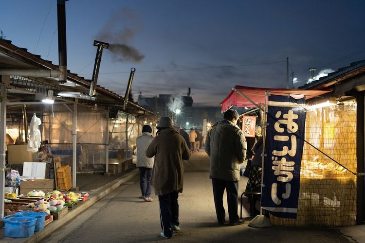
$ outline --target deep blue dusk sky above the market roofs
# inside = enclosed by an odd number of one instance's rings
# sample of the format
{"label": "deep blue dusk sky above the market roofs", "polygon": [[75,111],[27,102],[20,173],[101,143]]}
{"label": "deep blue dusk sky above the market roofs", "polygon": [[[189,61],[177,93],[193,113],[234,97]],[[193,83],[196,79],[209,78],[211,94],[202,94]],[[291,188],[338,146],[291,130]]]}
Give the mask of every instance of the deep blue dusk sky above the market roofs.
{"label": "deep blue dusk sky above the market roofs", "polygon": [[[69,0],[67,69],[124,96],[186,95],[218,106],[235,85],[299,87],[321,70],[365,59],[365,0]],[[3,0],[4,39],[58,64],[57,0]],[[122,49],[118,49],[118,47]],[[85,91],[88,93],[88,89]]]}

